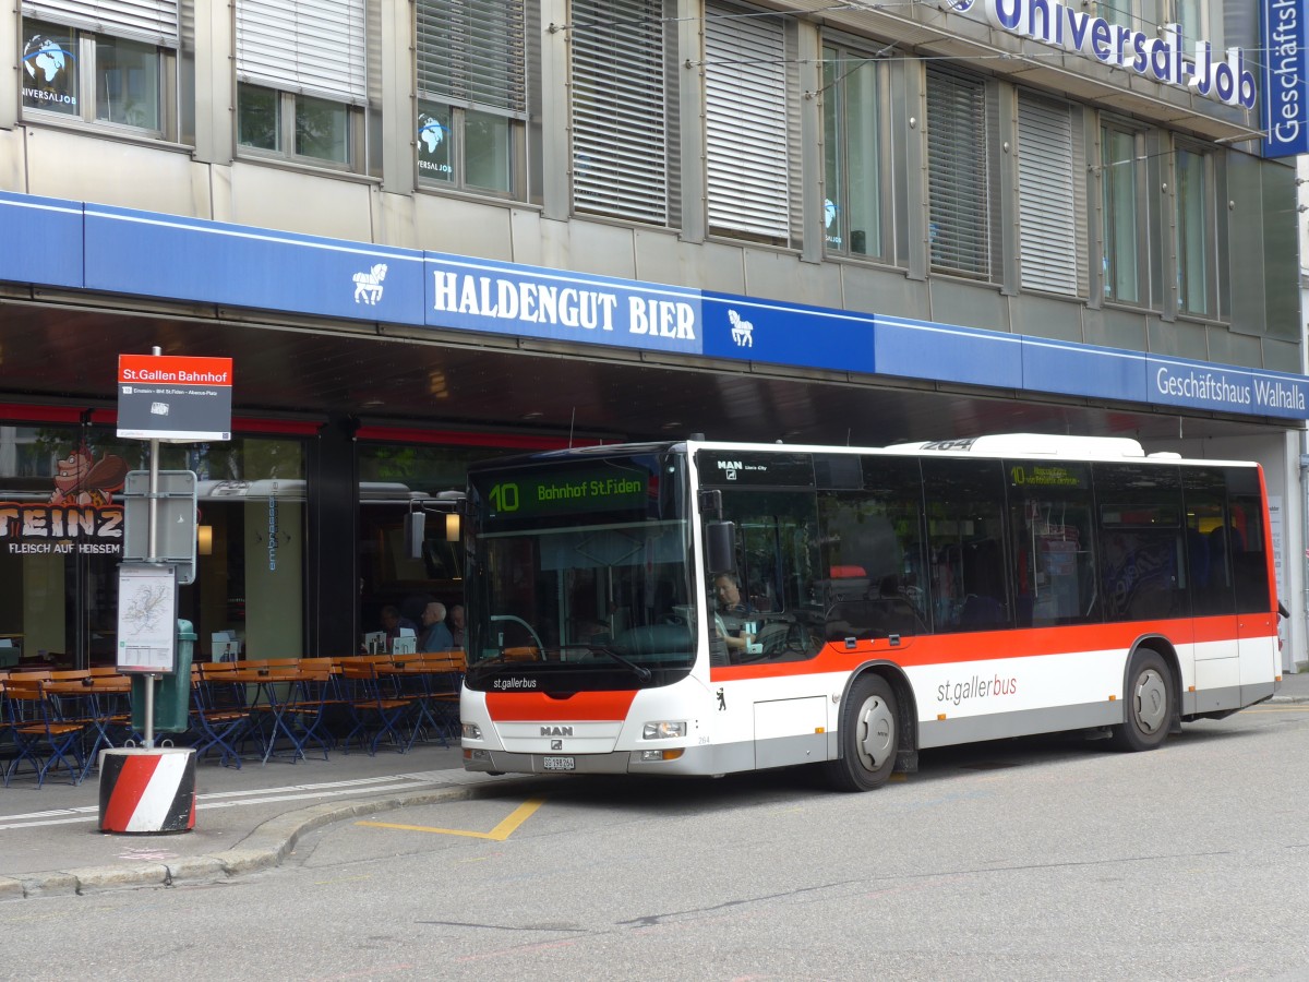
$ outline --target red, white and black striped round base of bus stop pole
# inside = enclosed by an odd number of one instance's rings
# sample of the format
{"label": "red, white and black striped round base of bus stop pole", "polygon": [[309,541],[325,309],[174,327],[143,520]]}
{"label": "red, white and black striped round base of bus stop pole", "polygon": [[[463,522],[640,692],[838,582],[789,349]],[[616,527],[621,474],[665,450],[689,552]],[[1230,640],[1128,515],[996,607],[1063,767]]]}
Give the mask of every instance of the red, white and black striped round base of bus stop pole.
{"label": "red, white and black striped round base of bus stop pole", "polygon": [[194,749],[115,748],[101,752],[101,831],[144,835],[194,827]]}

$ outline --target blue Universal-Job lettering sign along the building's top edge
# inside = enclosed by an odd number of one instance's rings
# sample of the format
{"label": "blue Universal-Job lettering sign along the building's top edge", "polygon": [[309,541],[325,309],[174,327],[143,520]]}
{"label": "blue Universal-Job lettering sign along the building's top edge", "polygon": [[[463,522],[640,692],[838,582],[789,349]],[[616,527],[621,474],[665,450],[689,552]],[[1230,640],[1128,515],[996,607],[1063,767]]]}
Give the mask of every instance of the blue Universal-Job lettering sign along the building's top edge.
{"label": "blue Universal-Job lettering sign along the building's top edge", "polygon": [[1241,48],[1229,47],[1224,60],[1215,60],[1212,46],[1196,41],[1187,56],[1182,50],[1182,27],[1177,24],[1165,24],[1158,35],[1145,34],[1051,0],[958,0],[950,9],[967,13],[974,7],[980,7],[987,21],[1011,34],[1055,45],[1168,85],[1190,88],[1229,106],[1254,109],[1258,100],[1254,72],[1246,68]]}

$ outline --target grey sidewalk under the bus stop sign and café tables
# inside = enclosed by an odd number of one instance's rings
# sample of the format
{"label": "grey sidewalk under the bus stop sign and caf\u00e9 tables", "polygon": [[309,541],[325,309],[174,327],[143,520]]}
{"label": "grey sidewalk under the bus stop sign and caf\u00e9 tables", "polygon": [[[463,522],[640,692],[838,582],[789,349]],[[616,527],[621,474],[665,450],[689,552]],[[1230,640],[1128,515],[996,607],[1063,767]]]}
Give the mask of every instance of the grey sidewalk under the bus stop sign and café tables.
{"label": "grey sidewalk under the bus stop sign and caf\u00e9 tables", "polygon": [[[1309,702],[1309,672],[1284,676],[1272,700]],[[225,880],[278,865],[301,835],[332,822],[548,780],[469,774],[458,748],[440,746],[241,770],[203,761],[195,771],[195,829],[168,835],[101,833],[94,774],[39,791],[16,779],[0,791],[0,900]]]}

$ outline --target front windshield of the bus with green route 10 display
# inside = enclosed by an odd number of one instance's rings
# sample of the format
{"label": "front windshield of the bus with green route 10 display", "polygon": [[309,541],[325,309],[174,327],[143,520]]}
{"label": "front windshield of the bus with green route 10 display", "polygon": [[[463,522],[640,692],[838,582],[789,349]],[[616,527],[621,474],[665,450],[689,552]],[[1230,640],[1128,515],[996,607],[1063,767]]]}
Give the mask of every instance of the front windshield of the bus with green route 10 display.
{"label": "front windshield of the bus with green route 10 display", "polygon": [[652,450],[469,475],[473,687],[634,689],[695,661],[685,458]]}

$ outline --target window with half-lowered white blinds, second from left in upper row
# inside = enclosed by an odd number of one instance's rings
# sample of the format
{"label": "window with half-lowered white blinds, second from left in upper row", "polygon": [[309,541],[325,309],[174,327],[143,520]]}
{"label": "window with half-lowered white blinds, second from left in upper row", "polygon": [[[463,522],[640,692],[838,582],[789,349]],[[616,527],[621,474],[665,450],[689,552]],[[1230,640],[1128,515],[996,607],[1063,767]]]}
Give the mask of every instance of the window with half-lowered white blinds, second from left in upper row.
{"label": "window with half-lowered white blinds, second from left in upper row", "polygon": [[363,0],[238,0],[237,143],[360,169]]}

